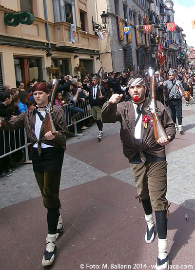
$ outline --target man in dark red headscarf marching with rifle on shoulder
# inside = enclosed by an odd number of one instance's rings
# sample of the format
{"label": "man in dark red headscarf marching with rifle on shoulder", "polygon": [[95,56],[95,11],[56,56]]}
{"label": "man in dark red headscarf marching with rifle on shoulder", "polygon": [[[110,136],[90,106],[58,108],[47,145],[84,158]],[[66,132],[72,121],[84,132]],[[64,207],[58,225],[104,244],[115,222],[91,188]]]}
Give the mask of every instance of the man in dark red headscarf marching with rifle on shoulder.
{"label": "man in dark red headscarf marching with rifle on shoulder", "polygon": [[48,234],[42,259],[42,266],[47,266],[54,261],[57,249],[55,241],[64,230],[59,213],[59,184],[68,129],[63,110],[54,105],[52,119],[57,134],[52,135],[51,131],[44,134],[49,89],[46,83],[38,82],[33,86],[32,92],[37,102],[36,108],[10,121],[1,119],[0,129],[25,128],[28,140],[33,143],[33,170],[43,197],[43,205],[47,208]]}

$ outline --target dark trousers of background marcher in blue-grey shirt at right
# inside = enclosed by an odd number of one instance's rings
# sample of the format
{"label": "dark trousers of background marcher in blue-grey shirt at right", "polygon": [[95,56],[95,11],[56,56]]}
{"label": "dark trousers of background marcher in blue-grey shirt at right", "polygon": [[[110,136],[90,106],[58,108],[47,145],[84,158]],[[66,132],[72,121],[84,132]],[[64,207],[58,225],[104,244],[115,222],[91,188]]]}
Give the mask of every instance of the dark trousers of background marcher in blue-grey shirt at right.
{"label": "dark trousers of background marcher in blue-grey shirt at right", "polygon": [[182,101],[181,99],[172,98],[167,101],[169,106],[169,111],[171,114],[171,118],[174,123],[176,123],[176,118],[178,118],[178,124],[181,125],[182,120]]}

